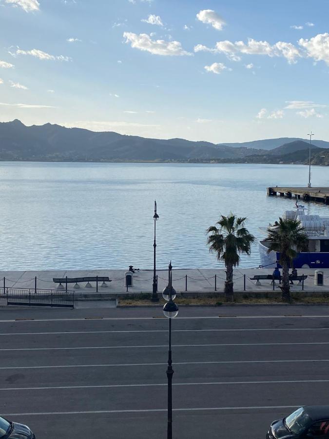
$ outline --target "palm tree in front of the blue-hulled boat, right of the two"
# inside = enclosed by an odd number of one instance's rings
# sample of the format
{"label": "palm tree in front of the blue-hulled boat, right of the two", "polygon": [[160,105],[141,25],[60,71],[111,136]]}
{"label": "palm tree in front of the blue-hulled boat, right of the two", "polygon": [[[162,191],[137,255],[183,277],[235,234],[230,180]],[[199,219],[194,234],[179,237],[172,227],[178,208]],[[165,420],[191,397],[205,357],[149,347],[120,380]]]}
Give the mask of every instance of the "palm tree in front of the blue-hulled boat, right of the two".
{"label": "palm tree in front of the blue-hulled boat, right of the two", "polygon": [[290,301],[289,267],[297,256],[297,252],[307,250],[308,238],[304,227],[299,220],[279,219],[278,228],[268,229],[269,236],[266,241],[271,244],[268,253],[271,251],[280,253],[280,265],[282,266],[282,300]]}

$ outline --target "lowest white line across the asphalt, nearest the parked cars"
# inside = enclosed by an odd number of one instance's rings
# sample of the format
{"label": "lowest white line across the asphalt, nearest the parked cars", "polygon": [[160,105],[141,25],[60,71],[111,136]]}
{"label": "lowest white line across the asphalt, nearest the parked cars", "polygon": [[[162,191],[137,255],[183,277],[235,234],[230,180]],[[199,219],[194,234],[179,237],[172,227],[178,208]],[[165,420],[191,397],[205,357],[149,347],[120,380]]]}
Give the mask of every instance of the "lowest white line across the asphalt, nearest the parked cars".
{"label": "lowest white line across the asphalt, nearest the parked cars", "polygon": [[[195,408],[173,408],[173,412],[194,412],[194,411],[210,411],[210,410],[261,410],[261,409],[284,409],[302,407],[300,405],[263,405],[249,407],[195,407]],[[93,415],[101,413],[145,413],[145,412],[167,412],[164,409],[134,409],[134,410],[93,410],[81,412],[37,412],[37,413],[3,413],[4,417],[9,416],[49,416],[49,415]]]}

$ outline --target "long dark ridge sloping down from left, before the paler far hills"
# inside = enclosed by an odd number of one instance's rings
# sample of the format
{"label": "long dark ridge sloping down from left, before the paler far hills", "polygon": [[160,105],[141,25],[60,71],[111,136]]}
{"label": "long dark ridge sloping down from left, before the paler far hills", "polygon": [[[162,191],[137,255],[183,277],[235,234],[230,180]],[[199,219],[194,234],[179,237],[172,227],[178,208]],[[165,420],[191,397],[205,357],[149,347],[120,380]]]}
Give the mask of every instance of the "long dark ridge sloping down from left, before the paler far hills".
{"label": "long dark ridge sloping down from left, before the paler far hills", "polygon": [[46,123],[0,123],[0,160],[187,161],[245,157],[250,148],[217,146],[206,141],[145,139],[115,132],[94,132]]}

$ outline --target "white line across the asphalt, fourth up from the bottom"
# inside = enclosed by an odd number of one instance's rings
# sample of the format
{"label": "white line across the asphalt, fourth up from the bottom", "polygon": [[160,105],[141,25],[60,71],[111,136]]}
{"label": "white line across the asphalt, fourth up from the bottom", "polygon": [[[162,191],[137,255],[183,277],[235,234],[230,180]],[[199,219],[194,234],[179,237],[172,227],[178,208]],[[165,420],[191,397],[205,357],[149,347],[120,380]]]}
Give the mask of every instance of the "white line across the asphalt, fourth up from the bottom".
{"label": "white line across the asphalt, fourth up from the bottom", "polygon": [[[215,343],[215,344],[173,344],[172,347],[224,347],[224,346],[295,346],[310,344],[329,344],[329,341],[301,341],[297,343]],[[74,346],[58,348],[11,348],[0,349],[0,351],[61,351],[61,350],[81,350],[81,349],[131,349],[131,348],[157,348],[168,347],[167,344],[148,344],[148,345],[128,345],[128,346]]]}

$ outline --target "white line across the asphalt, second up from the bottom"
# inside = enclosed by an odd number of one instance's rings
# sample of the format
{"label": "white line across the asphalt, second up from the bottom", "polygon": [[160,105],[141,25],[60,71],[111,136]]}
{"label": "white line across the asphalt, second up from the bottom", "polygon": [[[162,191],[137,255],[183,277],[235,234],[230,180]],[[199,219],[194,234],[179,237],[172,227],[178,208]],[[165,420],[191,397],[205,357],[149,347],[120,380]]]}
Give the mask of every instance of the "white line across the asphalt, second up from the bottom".
{"label": "white line across the asphalt, second up from the bottom", "polygon": [[[174,382],[173,386],[212,386],[212,385],[234,385],[234,384],[287,384],[287,383],[303,383],[303,382],[329,382],[329,379],[296,379],[283,381],[214,381],[214,382]],[[167,383],[154,384],[107,384],[94,386],[52,386],[52,387],[9,387],[0,389],[4,390],[65,390],[65,389],[97,389],[111,387],[167,387]]]}

